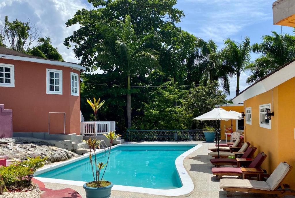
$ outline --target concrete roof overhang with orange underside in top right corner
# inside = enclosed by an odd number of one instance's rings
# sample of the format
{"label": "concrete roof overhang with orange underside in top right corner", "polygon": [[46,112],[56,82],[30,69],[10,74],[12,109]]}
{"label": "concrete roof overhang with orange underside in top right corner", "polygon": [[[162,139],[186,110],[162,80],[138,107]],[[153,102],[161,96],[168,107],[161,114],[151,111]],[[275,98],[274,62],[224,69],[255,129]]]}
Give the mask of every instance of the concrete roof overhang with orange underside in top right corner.
{"label": "concrete roof overhang with orange underside in top right corner", "polygon": [[294,0],[278,0],[273,3],[273,24],[295,27]]}

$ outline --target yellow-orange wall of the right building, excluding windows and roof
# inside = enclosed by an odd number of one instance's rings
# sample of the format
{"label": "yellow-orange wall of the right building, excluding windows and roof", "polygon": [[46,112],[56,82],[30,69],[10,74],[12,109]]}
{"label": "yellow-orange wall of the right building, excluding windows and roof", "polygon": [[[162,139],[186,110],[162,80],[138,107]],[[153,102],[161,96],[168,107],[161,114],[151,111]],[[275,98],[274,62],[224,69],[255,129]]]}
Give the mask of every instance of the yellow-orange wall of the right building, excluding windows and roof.
{"label": "yellow-orange wall of the right building, excluding windows and roof", "polygon": [[[274,112],[271,129],[259,125],[259,105],[262,104],[271,104],[271,112]],[[258,148],[254,155],[266,153],[262,168],[271,174],[283,161],[295,167],[295,78],[244,101],[244,107],[252,107],[251,125],[244,120],[245,141]],[[294,177],[295,170],[292,170],[284,182],[292,189],[295,188]]]}

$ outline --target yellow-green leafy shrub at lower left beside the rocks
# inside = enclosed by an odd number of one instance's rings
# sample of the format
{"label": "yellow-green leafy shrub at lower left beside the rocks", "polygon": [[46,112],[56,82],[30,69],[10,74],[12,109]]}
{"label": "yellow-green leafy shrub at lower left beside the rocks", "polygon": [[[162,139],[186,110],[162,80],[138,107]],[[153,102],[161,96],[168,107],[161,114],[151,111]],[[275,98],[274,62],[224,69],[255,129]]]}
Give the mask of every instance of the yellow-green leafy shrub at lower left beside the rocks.
{"label": "yellow-green leafy shrub at lower left beside the rocks", "polygon": [[0,167],[0,175],[3,179],[4,185],[14,187],[28,187],[30,186],[29,174],[33,174],[38,168],[44,166],[46,158],[40,157],[28,158],[23,162],[16,162],[9,166]]}

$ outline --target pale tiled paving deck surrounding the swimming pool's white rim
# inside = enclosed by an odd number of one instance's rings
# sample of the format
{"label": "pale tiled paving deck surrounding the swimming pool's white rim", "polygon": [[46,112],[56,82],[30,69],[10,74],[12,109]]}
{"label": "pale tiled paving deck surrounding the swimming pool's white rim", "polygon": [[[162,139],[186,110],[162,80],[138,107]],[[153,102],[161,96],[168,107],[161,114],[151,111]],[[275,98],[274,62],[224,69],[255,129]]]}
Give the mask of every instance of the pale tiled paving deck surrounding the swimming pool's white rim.
{"label": "pale tiled paving deck surrounding the swimming pool's white rim", "polygon": [[[184,161],[184,167],[189,173],[192,181],[194,182],[194,190],[186,195],[177,196],[177,197],[186,197],[186,198],[225,198],[226,192],[222,189],[219,189],[219,181],[215,179],[215,176],[211,172],[213,167],[210,163],[210,157],[208,155],[208,147],[214,146],[215,143],[206,143],[203,141],[185,141],[185,142],[141,142],[144,144],[164,144],[164,143],[178,143],[178,144],[202,144],[203,146],[193,153],[189,154]],[[140,143],[137,143],[140,144]],[[82,198],[86,198],[85,191],[82,186],[66,185],[66,184],[53,184],[44,182],[45,187],[49,189],[64,189],[71,188],[76,190]],[[126,192],[126,191],[116,191],[112,190],[110,198],[167,198],[167,196],[152,195],[152,194],[142,194],[135,192]],[[253,197],[275,197],[272,195],[262,195],[254,193],[235,193],[233,194],[234,198],[243,197],[243,198],[253,198]],[[291,198],[293,196],[285,196],[285,198]]]}

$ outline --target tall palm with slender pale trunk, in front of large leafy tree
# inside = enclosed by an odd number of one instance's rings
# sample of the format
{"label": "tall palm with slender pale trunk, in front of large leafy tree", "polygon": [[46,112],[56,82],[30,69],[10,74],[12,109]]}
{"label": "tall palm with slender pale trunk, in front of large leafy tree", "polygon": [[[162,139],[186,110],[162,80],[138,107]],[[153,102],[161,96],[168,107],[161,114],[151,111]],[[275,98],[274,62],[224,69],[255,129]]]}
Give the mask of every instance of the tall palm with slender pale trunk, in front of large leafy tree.
{"label": "tall palm with slender pale trunk, in front of large leafy tree", "polygon": [[124,21],[100,20],[98,29],[102,39],[96,45],[97,60],[108,68],[119,69],[127,78],[127,123],[130,128],[131,78],[159,67],[156,51],[145,48],[153,35],[137,36],[129,15]]}

